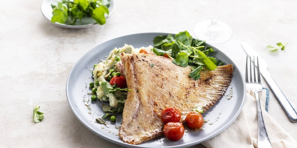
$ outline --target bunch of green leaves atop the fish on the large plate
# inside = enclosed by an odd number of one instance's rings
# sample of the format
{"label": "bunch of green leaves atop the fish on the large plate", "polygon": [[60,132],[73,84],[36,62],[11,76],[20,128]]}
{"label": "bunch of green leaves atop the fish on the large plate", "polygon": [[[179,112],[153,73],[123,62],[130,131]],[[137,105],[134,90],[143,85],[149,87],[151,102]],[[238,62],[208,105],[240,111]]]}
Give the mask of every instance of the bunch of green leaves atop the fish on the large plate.
{"label": "bunch of green leaves atop the fish on the large plate", "polygon": [[[187,31],[179,32],[175,37],[171,34],[158,35],[153,39],[153,52],[156,55],[170,55],[172,62],[176,65],[186,67],[193,66],[189,76],[200,79],[199,72],[204,67],[208,70],[215,70],[217,66],[224,65],[221,60],[209,56],[213,52],[211,47],[204,47],[205,41],[193,39]],[[201,67],[200,67],[201,66]]]}

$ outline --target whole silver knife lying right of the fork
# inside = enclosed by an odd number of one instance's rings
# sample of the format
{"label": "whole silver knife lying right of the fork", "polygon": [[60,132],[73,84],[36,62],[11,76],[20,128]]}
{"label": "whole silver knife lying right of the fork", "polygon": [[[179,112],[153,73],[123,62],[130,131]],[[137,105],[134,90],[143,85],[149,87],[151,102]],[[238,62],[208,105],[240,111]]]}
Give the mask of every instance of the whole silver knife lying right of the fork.
{"label": "whole silver knife lying right of the fork", "polygon": [[258,53],[254,50],[254,48],[250,46],[248,43],[241,42],[241,46],[243,47],[245,52],[247,52],[248,56],[258,56],[261,75],[264,77],[269,88],[272,90],[274,96],[278,100],[279,104],[282,106],[282,109],[285,111],[290,121],[296,123],[297,113],[295,109],[292,107],[291,103],[286,98],[286,96],[282,93],[281,89],[275,83],[271,75],[269,74],[267,70],[266,62],[260,57],[260,55],[258,55]]}

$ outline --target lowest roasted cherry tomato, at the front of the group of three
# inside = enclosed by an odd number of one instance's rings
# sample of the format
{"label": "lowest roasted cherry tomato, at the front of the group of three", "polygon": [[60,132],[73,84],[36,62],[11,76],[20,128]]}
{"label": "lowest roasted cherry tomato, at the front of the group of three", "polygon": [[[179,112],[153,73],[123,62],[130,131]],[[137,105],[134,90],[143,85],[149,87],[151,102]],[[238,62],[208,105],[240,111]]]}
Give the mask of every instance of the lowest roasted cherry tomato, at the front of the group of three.
{"label": "lowest roasted cherry tomato, at the front of the group of three", "polygon": [[180,122],[168,122],[163,129],[163,133],[168,140],[180,140],[183,138],[185,129]]}

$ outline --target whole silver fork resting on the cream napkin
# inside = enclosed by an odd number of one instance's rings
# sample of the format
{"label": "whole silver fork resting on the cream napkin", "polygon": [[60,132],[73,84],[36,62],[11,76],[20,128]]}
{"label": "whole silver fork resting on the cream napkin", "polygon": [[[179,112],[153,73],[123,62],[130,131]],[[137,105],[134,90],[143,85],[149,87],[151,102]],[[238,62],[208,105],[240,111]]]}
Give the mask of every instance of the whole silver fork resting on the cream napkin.
{"label": "whole silver fork resting on the cream napkin", "polygon": [[262,91],[262,85],[261,85],[261,79],[260,79],[260,69],[259,69],[259,61],[257,57],[257,76],[258,76],[258,82],[256,81],[256,70],[255,70],[255,56],[254,56],[254,82],[252,80],[252,57],[250,57],[250,82],[248,82],[248,56],[247,56],[247,64],[245,68],[245,83],[246,85],[252,89],[256,96],[256,103],[257,103],[257,115],[258,115],[258,148],[272,148],[270,140],[268,138],[268,134],[265,128],[261,106],[260,106],[260,100],[259,100],[259,94],[258,92]]}

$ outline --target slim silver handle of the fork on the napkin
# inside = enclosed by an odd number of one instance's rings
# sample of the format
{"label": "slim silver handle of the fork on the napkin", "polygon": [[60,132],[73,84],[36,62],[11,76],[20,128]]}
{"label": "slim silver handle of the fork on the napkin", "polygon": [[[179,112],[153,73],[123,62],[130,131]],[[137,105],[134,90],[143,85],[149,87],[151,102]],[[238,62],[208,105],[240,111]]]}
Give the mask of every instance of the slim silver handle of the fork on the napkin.
{"label": "slim silver handle of the fork on the napkin", "polygon": [[256,103],[257,103],[257,115],[258,115],[258,148],[272,148],[270,140],[268,138],[268,134],[265,128],[261,106],[260,106],[260,100],[259,100],[259,94],[258,92],[254,92],[256,96]]}

